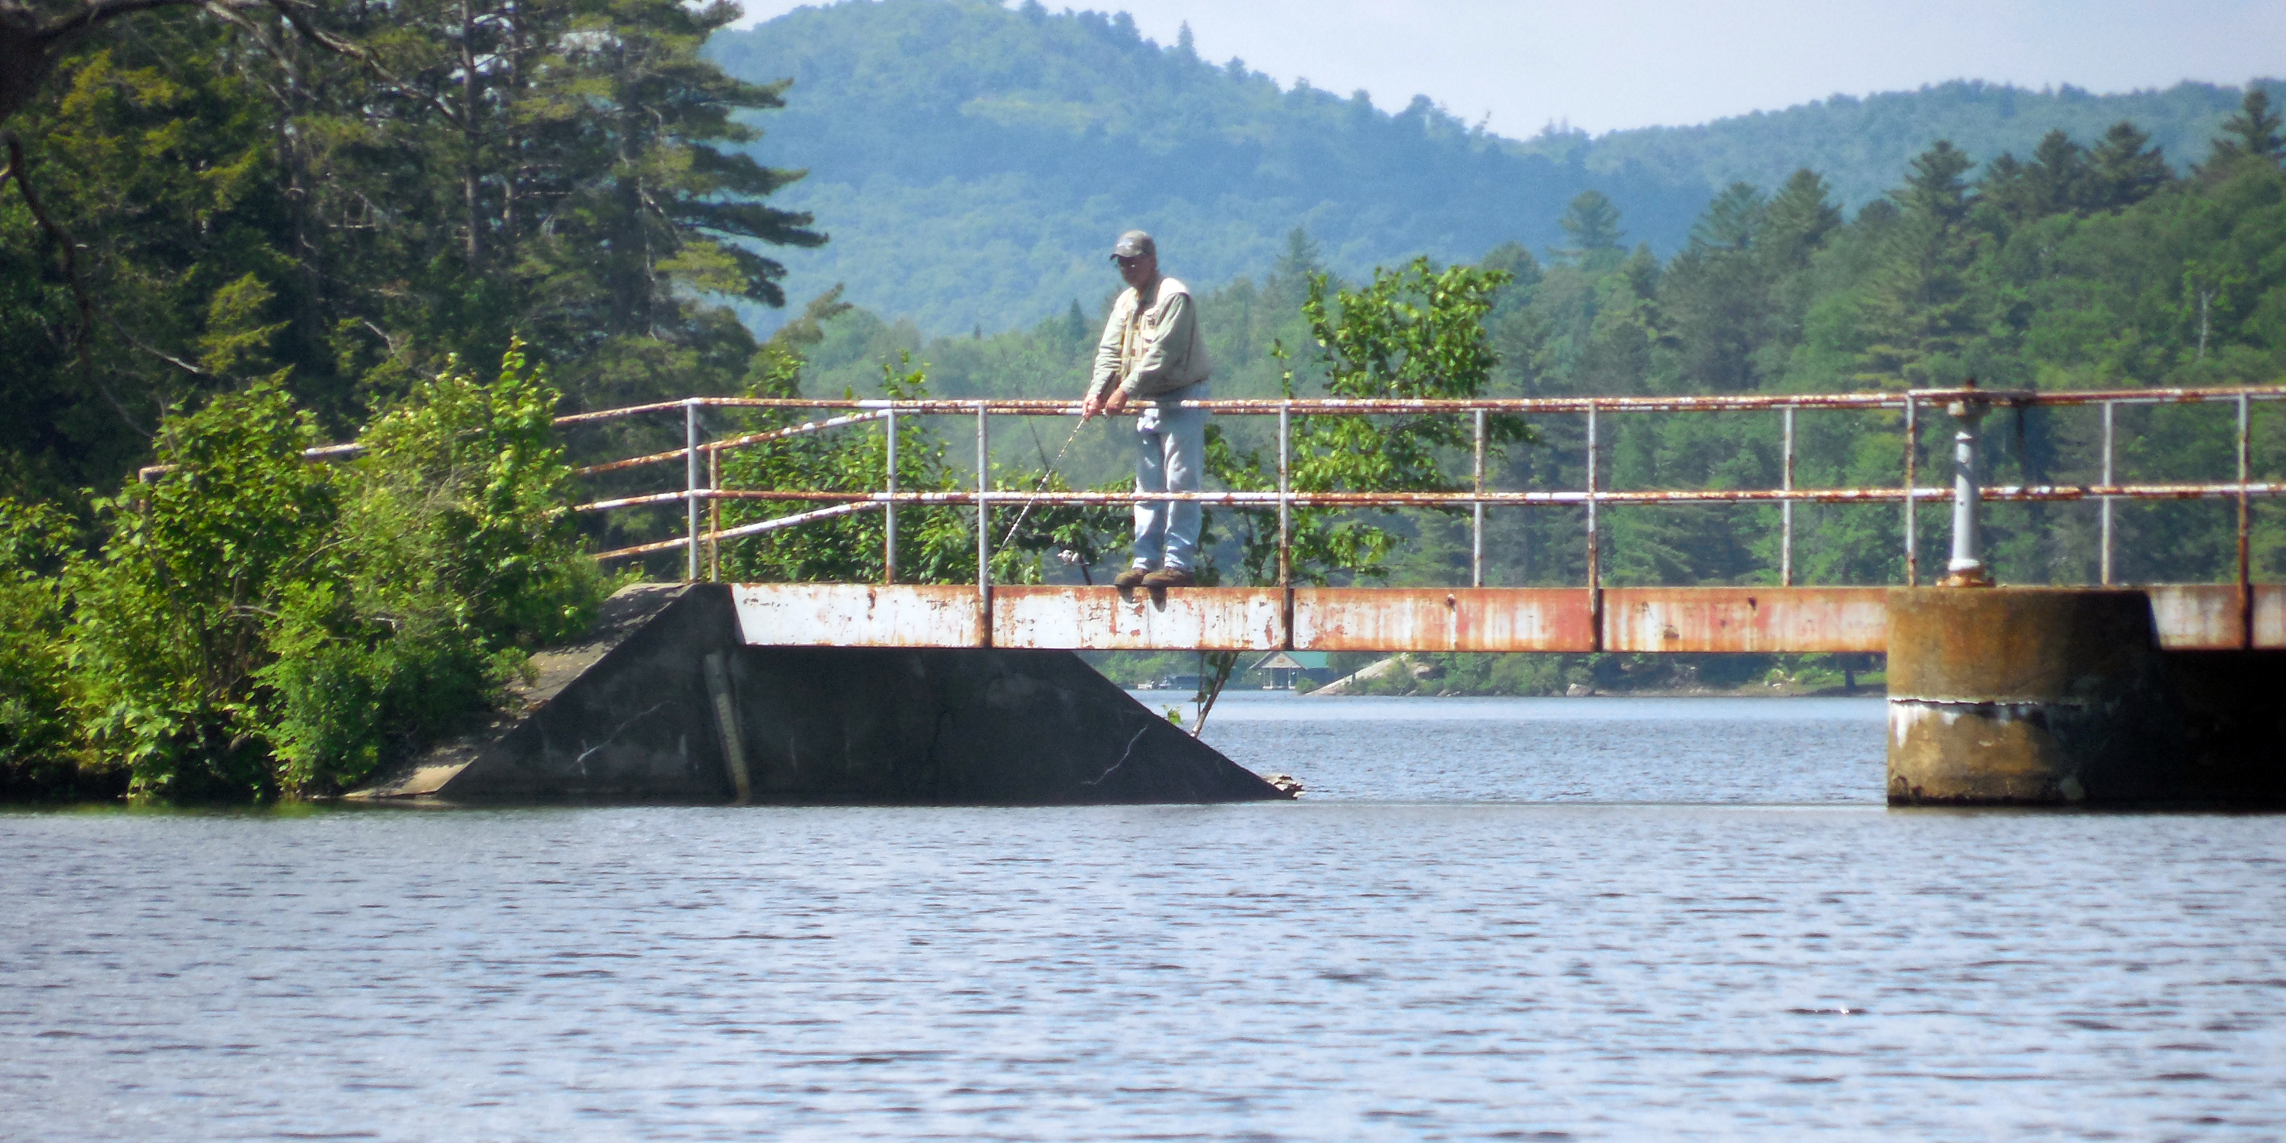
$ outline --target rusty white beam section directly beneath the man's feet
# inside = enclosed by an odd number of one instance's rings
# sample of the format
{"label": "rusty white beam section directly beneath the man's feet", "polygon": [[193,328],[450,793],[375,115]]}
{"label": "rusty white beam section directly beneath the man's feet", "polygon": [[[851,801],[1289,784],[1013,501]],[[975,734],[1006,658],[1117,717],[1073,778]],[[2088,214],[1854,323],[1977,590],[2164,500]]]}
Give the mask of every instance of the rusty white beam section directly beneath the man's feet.
{"label": "rusty white beam section directly beneath the man's feet", "polygon": [[1097,652],[1273,652],[1285,645],[1278,588],[992,588],[992,645]]}

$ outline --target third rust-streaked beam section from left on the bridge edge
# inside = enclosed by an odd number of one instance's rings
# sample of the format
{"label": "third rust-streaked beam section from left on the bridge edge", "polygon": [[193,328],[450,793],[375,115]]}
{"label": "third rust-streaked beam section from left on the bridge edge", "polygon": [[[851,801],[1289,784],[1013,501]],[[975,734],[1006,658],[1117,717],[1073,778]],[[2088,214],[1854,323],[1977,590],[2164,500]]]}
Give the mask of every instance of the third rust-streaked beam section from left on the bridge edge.
{"label": "third rust-streaked beam section from left on the bridge edge", "polygon": [[1296,652],[1586,652],[1584,588],[1296,588]]}

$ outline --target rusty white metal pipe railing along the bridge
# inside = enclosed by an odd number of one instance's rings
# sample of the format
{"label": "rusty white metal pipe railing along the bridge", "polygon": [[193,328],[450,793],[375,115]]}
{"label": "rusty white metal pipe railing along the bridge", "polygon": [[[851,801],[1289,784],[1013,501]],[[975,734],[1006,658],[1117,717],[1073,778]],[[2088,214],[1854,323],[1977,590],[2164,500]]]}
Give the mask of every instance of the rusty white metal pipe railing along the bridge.
{"label": "rusty white metal pipe railing along the bridge", "polygon": [[[2277,496],[2286,482],[2252,480],[2252,402],[2286,400],[2286,386],[2211,386],[2211,389],[2110,389],[2110,391],[1996,391],[1966,384],[1959,389],[1916,389],[1881,393],[1751,393],[1751,395],[1639,395],[1639,398],[1468,398],[1468,400],[1353,400],[1353,398],[1292,398],[1292,400],[1191,400],[1184,407],[1207,409],[1216,416],[1276,416],[1278,418],[1278,489],[1276,491],[1006,491],[990,487],[990,418],[992,416],[1077,416],[1077,400],[1042,398],[926,398],[926,400],[807,400],[807,398],[686,398],[672,402],[633,405],[624,409],[601,409],[555,418],[558,425],[583,425],[613,418],[631,418],[663,411],[684,411],[684,448],[629,457],[578,469],[581,475],[626,471],[647,464],[670,464],[684,459],[686,480],[681,489],[640,496],[620,496],[583,503],[578,512],[610,512],[622,507],[684,503],[686,528],[681,537],[633,544],[606,551],[601,560],[624,560],[656,551],[686,549],[686,576],[700,578],[700,549],[709,551],[709,574],[720,565],[720,544],[748,535],[796,528],[812,521],[834,519],[853,512],[885,512],[885,578],[896,578],[896,510],[901,505],[969,505],[976,507],[976,588],[990,599],[992,590],[992,505],[1134,505],[1159,501],[1196,501],[1230,507],[1276,507],[1278,510],[1278,583],[1292,581],[1292,510],[1296,507],[1468,507],[1470,510],[1470,585],[1484,583],[1484,512],[1488,507],[1584,507],[1586,514],[1586,588],[1593,592],[1602,583],[1600,567],[1600,521],[1605,505],[1687,505],[1687,503],[1776,503],[1781,507],[1779,581],[1795,583],[1795,503],[1900,503],[1907,583],[1920,583],[1918,517],[1923,503],[1952,503],[1952,553],[1945,565],[1945,583],[1989,583],[1980,549],[1980,505],[1984,501],[2099,501],[2101,503],[2101,583],[2110,585],[2112,560],[2112,505],[2117,501],[2190,501],[2190,498],[2236,498],[2238,501],[2238,583],[2249,592],[2249,501],[2254,496]],[[2236,405],[2236,480],[2206,482],[2115,482],[2115,411],[2121,405]],[[1984,485],[1980,480],[1977,423],[1991,409],[2030,407],[2101,407],[2103,409],[2103,478],[2096,485]],[[1918,485],[1918,432],[1925,409],[1943,409],[1955,421],[1952,487]],[[718,441],[700,439],[700,409],[814,409],[839,411],[823,421],[802,425],[748,432]],[[1904,473],[1897,487],[1797,487],[1795,482],[1795,414],[1801,409],[1856,409],[1856,411],[1902,411]],[[1781,414],[1781,480],[1774,489],[1609,489],[1600,485],[1602,446],[1600,418],[1609,414],[1687,414],[1687,411],[1779,411]],[[1292,418],[1294,416],[1422,416],[1452,414],[1470,416],[1474,427],[1472,480],[1468,491],[1294,491],[1292,489]],[[1497,491],[1486,487],[1484,450],[1486,416],[1584,416],[1584,480],[1580,489],[1564,491]],[[896,418],[898,416],[974,416],[976,418],[976,487],[969,491],[898,491],[896,489]],[[720,487],[720,457],[725,450],[764,446],[791,437],[880,421],[887,434],[889,464],[887,482],[878,491],[816,491],[816,489],[725,489]],[[700,457],[706,457],[706,475],[700,475]],[[818,503],[814,507],[768,521],[720,528],[720,503],[725,501],[784,501]],[[713,526],[700,528],[702,505],[711,507]]]}

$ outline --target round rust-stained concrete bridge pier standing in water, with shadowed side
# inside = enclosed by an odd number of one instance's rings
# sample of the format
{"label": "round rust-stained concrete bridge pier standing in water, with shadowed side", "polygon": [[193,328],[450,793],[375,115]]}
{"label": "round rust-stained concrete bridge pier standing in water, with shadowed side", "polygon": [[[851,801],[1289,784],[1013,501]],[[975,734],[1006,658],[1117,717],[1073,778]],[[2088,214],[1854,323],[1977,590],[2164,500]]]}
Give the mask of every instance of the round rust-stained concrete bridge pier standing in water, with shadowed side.
{"label": "round rust-stained concrete bridge pier standing in water, with shadowed side", "polygon": [[2275,805],[2279,652],[2165,652],[2133,590],[1897,588],[1891,805]]}

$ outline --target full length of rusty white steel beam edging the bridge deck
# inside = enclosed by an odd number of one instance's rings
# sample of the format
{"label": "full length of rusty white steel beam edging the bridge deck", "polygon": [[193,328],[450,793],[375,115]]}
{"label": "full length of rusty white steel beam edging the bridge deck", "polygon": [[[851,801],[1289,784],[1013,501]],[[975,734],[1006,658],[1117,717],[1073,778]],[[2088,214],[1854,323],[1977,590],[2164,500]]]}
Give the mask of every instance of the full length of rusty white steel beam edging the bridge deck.
{"label": "full length of rusty white steel beam edging the bridge deck", "polygon": [[[2236,649],[2238,588],[2151,594],[2169,649]],[[1093,652],[1881,652],[1886,588],[992,588],[741,583],[761,647]],[[2286,649],[2286,585],[2254,588],[2254,647]]]}

